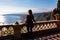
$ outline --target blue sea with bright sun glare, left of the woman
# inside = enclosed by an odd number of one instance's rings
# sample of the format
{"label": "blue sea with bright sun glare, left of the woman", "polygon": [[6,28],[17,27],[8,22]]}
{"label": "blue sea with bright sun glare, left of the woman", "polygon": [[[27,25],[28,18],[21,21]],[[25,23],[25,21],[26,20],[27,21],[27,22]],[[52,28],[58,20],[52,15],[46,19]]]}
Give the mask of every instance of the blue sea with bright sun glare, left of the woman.
{"label": "blue sea with bright sun glare, left of the woman", "polygon": [[25,14],[4,14],[0,15],[0,25],[1,24],[13,24],[16,21],[21,22],[26,18]]}

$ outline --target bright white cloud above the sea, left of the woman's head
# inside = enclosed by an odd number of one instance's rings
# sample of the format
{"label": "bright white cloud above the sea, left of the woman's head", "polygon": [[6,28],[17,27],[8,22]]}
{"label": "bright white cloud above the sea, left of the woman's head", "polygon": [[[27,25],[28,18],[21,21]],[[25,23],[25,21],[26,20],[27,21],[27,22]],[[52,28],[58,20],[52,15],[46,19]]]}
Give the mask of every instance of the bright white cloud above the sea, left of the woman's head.
{"label": "bright white cloud above the sea, left of the woman's head", "polygon": [[8,13],[20,13],[26,12],[26,8],[24,7],[10,7],[10,6],[0,6],[0,14],[8,14]]}

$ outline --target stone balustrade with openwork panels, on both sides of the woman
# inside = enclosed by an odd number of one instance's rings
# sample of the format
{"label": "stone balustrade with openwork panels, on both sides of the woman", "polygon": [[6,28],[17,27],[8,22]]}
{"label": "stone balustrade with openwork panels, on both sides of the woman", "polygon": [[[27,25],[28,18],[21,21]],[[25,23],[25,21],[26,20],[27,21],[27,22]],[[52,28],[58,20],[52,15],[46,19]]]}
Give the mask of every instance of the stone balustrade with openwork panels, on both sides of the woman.
{"label": "stone balustrade with openwork panels, on both sides of the woman", "polygon": [[[32,28],[33,32],[49,30],[49,29],[60,29],[60,20],[50,20],[50,21],[37,21],[34,23]],[[0,25],[0,37],[15,35],[16,37],[22,33],[27,33],[26,24],[20,25]]]}

